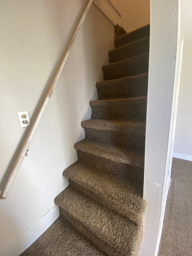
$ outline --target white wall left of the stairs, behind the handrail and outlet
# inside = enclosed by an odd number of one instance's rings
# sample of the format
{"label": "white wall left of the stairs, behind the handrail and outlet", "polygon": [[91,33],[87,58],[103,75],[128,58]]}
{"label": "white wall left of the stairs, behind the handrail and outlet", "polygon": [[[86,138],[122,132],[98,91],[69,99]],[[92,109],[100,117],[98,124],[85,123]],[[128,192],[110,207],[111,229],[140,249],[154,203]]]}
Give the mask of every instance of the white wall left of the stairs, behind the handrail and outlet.
{"label": "white wall left of the stairs, behind the handrail and outlet", "polygon": [[[0,189],[28,128],[17,111],[32,116],[48,86],[86,0],[0,1]],[[114,27],[94,5],[79,32],[55,92],[19,169],[0,200],[0,255],[24,251],[58,217],[54,197],[68,184],[63,170],[76,161],[73,145],[84,137],[95,83],[113,49]]]}

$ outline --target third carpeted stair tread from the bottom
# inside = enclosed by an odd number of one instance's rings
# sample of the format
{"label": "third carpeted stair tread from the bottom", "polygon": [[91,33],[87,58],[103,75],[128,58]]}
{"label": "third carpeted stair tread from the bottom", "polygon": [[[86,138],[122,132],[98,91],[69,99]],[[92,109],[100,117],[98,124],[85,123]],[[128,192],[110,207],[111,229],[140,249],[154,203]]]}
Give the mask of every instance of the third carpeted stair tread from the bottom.
{"label": "third carpeted stair tread from the bottom", "polygon": [[83,152],[107,158],[112,161],[130,164],[137,167],[144,166],[144,153],[136,151],[127,151],[123,148],[118,148],[112,145],[105,145],[95,141],[81,140],[74,145],[75,149]]}

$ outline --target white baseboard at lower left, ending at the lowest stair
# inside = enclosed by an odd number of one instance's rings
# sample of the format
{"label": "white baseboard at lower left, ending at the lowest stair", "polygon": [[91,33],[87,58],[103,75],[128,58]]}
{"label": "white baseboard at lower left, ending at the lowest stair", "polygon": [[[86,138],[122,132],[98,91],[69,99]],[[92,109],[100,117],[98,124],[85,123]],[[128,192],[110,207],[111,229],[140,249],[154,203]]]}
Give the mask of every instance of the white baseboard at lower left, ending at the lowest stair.
{"label": "white baseboard at lower left, ending at the lowest stair", "polygon": [[26,229],[20,236],[11,241],[1,250],[2,256],[17,256],[26,250],[35,240],[41,236],[48,227],[58,218],[58,206],[54,206],[41,219]]}

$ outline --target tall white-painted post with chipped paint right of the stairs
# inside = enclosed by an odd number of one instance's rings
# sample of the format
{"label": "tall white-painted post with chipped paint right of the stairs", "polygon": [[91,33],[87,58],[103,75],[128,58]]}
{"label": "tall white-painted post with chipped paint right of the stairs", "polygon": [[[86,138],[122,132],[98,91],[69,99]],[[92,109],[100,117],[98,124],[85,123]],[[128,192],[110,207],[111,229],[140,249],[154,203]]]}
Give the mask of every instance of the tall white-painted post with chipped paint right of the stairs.
{"label": "tall white-painted post with chipped paint right of the stairs", "polygon": [[182,0],[151,0],[141,256],[157,256],[173,154],[182,60]]}

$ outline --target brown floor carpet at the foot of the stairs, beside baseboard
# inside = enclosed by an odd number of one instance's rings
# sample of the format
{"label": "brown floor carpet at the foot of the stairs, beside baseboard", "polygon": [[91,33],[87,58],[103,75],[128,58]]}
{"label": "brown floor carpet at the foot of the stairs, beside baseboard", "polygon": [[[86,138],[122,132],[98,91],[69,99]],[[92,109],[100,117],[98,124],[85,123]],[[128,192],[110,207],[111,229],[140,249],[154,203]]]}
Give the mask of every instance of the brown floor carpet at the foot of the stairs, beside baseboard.
{"label": "brown floor carpet at the foot of the stairs, beside baseboard", "polygon": [[20,256],[107,256],[59,217]]}

